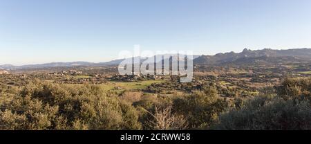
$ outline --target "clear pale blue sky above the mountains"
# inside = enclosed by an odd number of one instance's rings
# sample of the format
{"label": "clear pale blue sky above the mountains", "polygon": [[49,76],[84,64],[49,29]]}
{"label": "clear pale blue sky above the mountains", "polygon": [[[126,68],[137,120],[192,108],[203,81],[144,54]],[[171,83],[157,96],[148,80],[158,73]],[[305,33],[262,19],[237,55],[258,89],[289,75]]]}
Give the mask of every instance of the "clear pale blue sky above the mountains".
{"label": "clear pale blue sky above the mountains", "polygon": [[0,64],[311,48],[310,0],[0,0]]}

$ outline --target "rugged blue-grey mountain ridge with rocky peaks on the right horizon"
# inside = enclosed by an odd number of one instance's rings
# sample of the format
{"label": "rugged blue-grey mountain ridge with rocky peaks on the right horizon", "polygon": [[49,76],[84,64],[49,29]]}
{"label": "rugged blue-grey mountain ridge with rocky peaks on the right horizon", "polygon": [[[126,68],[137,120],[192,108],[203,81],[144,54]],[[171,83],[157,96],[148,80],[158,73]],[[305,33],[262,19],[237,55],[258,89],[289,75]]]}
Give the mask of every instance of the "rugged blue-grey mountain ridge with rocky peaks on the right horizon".
{"label": "rugged blue-grey mountain ridge with rocky peaks on the right horizon", "polygon": [[194,64],[265,64],[279,62],[311,62],[311,48],[288,50],[252,51],[245,48],[241,53],[218,53],[216,55],[201,55]]}

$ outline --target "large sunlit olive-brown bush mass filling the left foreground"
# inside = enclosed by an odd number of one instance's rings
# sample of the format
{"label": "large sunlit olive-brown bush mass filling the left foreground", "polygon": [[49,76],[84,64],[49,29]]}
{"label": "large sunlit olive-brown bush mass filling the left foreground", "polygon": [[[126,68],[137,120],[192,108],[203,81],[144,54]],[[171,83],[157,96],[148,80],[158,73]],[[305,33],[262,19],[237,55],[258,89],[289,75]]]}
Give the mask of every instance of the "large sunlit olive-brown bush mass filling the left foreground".
{"label": "large sunlit olive-brown bush mass filling the left foreground", "polygon": [[89,84],[34,82],[5,107],[1,129],[141,129],[135,107]]}

